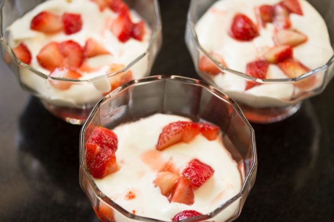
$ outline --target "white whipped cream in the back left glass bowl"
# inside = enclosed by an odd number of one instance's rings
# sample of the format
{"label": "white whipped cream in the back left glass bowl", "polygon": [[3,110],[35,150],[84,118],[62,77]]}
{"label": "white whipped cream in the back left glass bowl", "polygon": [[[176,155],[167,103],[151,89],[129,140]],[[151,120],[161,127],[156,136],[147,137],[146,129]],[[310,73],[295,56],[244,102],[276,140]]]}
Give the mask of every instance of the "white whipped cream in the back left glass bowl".
{"label": "white whipped cream in the back left glass bowl", "polygon": [[[64,12],[79,13],[83,21],[82,29],[71,35],[66,35],[64,32],[50,35],[31,30],[30,22],[32,18],[42,11],[59,15]],[[131,11],[130,15],[134,23],[141,20],[134,11]],[[109,65],[131,63],[145,52],[150,42],[151,30],[147,26],[145,26],[145,35],[142,41],[130,38],[126,43],[120,42],[111,31],[106,29],[106,21],[115,17],[117,17],[117,14],[112,10],[105,9],[101,12],[98,5],[90,0],[72,0],[70,3],[67,0],[49,0],[36,6],[23,17],[16,19],[12,25],[7,27],[9,45],[15,47],[23,42],[32,55],[30,66],[46,75],[49,75],[50,72],[39,65],[36,55],[50,42],[73,40],[83,47],[88,38],[94,38],[110,52],[110,55],[85,59],[84,63],[91,67],[100,67],[96,71],[83,72],[82,77],[79,78],[91,79],[100,76],[92,83],[73,84],[68,90],[62,91],[52,87],[48,80],[25,70],[21,70],[21,72],[24,71],[21,74],[21,81],[33,90],[38,91],[43,99],[46,99],[52,105],[82,108],[86,104],[95,103],[102,97],[103,92],[108,92],[111,89],[109,80],[105,76],[109,73]],[[148,66],[148,59],[145,56],[131,68],[134,78],[146,75],[149,71]]]}

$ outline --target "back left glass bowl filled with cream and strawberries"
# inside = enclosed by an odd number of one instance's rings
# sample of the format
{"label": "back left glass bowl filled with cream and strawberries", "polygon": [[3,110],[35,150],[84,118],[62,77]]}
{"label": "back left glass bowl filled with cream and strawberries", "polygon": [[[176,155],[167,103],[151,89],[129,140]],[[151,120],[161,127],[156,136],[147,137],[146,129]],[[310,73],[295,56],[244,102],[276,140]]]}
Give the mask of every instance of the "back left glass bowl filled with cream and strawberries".
{"label": "back left glass bowl filled with cream and strawberries", "polygon": [[160,50],[158,1],[113,2],[1,2],[5,63],[24,90],[68,123],[82,124],[108,92],[149,75]]}

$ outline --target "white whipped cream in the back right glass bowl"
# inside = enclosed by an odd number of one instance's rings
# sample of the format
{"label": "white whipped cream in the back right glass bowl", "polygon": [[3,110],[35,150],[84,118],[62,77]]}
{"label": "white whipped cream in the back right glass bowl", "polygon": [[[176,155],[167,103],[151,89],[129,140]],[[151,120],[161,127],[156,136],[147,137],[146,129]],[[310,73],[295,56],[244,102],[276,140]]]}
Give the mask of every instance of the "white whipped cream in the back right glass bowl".
{"label": "white whipped cream in the back right glass bowl", "polygon": [[[224,57],[227,67],[246,73],[246,65],[258,57],[262,57],[266,49],[273,47],[275,28],[267,23],[265,28],[259,28],[259,36],[250,42],[240,42],[228,33],[232,19],[236,13],[246,14],[254,24],[256,16],[254,8],[261,5],[274,5],[281,0],[220,0],[211,6],[199,19],[195,30],[199,43],[208,52]],[[291,29],[296,29],[308,37],[304,44],[293,48],[293,57],[310,69],[318,68],[328,62],[333,55],[326,23],[319,12],[305,0],[299,0],[304,15],[291,13]],[[219,28],[217,28],[219,27]],[[315,31],[311,27],[317,27]],[[209,76],[215,84],[227,94],[251,107],[266,108],[290,105],[291,98],[301,92],[292,84],[262,84],[245,91],[246,80],[232,73]],[[283,71],[270,64],[267,79],[287,78]],[[317,76],[319,87],[323,76]]]}

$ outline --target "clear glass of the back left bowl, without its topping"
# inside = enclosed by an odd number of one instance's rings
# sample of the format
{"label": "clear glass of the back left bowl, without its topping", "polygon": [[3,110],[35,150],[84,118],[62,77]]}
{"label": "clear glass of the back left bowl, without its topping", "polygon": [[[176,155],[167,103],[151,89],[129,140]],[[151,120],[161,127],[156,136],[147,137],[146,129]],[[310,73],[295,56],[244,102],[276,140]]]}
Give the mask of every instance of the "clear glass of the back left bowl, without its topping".
{"label": "clear glass of the back left bowl, without its topping", "polygon": [[[45,0],[2,1],[0,3],[0,42],[2,58],[16,76],[21,87],[39,97],[44,107],[52,114],[68,123],[82,124],[92,107],[110,91],[110,83],[112,84],[117,79],[126,76],[128,71],[132,71],[133,76],[150,74],[162,44],[161,17],[157,0],[124,0],[152,30],[152,36],[146,50],[132,62],[124,64],[125,67],[120,71],[86,80],[52,77],[42,73],[18,60],[9,46],[9,33],[6,27],[43,2]],[[54,89],[50,84],[70,85],[71,90],[56,93],[57,89]]]}

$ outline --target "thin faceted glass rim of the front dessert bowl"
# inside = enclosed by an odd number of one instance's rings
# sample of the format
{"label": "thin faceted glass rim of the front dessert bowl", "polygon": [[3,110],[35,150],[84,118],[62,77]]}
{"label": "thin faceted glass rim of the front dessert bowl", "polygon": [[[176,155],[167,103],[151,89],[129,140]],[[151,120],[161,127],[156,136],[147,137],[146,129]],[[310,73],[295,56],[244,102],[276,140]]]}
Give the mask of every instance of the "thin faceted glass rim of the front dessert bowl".
{"label": "thin faceted glass rim of the front dessert bowl", "polygon": [[[226,95],[224,92],[218,90],[217,88],[209,85],[208,83],[206,83],[206,82],[204,82],[202,80],[198,80],[198,79],[194,79],[194,78],[189,78],[189,77],[183,77],[183,76],[177,76],[177,75],[170,75],[170,76],[168,76],[168,75],[155,75],[155,76],[149,76],[149,77],[144,77],[144,78],[141,78],[141,79],[131,80],[127,84],[116,88],[114,91],[110,92],[108,95],[106,95],[102,99],[100,99],[99,102],[95,105],[95,107],[90,112],[89,116],[87,117],[85,123],[83,124],[83,126],[82,126],[82,128],[80,130],[80,153],[79,153],[79,155],[80,155],[80,171],[82,171],[80,174],[82,174],[82,176],[85,176],[85,177],[88,178],[89,185],[94,190],[95,195],[99,199],[102,199],[105,203],[107,203],[108,205],[110,205],[113,208],[115,208],[118,212],[120,212],[121,214],[123,214],[127,218],[141,220],[141,221],[146,221],[146,222],[170,222],[170,221],[158,220],[158,219],[154,219],[154,218],[150,218],[150,217],[138,216],[138,215],[135,215],[135,214],[133,214],[131,212],[128,212],[127,210],[125,210],[124,208],[122,208],[115,201],[113,201],[112,199],[110,199],[109,197],[107,197],[97,187],[97,185],[96,185],[96,183],[94,181],[94,178],[92,178],[92,176],[89,174],[89,172],[87,170],[87,167],[86,167],[86,164],[85,164],[85,159],[84,159],[84,157],[85,157],[85,153],[84,153],[84,151],[85,151],[84,135],[85,135],[86,129],[88,127],[88,123],[91,122],[91,119],[95,116],[95,114],[96,114],[98,108],[100,107],[100,105],[102,103],[106,102],[106,100],[112,99],[113,97],[117,96],[119,93],[123,92],[124,90],[126,90],[127,88],[129,88],[131,86],[136,86],[136,85],[139,85],[141,83],[155,82],[155,81],[159,81],[159,80],[176,80],[176,81],[179,81],[179,82],[194,84],[194,85],[198,85],[199,87],[205,88],[206,90],[210,91],[215,96],[218,96],[219,98],[221,98],[222,100],[224,100],[225,103],[230,104],[233,107],[233,109],[237,112],[237,114],[239,115],[239,117],[242,118],[243,122],[246,124],[246,126],[248,127],[248,129],[250,129],[251,140],[252,140],[251,141],[251,152],[252,152],[252,156],[253,156],[253,161],[252,161],[252,165],[251,165],[251,168],[250,168],[249,172],[245,175],[245,179],[243,181],[242,188],[232,198],[228,199],[225,203],[221,204],[219,207],[217,207],[216,209],[214,209],[210,213],[203,214],[203,215],[196,216],[196,217],[192,217],[192,218],[188,218],[188,219],[184,219],[182,221],[184,221],[184,222],[188,222],[189,221],[190,222],[190,221],[199,221],[200,219],[203,219],[203,220],[204,219],[210,219],[210,218],[214,217],[215,215],[217,215],[218,213],[220,213],[221,211],[225,210],[228,206],[230,206],[237,199],[239,199],[240,197],[242,197],[243,195],[245,195],[245,193],[248,192],[247,187],[251,183],[252,178],[256,175],[257,153],[256,153],[256,143],[255,143],[255,132],[254,132],[254,129],[252,128],[252,126],[250,125],[250,123],[248,122],[248,120],[246,119],[245,115],[243,114],[243,112],[241,111],[241,109],[237,105],[237,103],[234,101],[234,99],[232,99],[231,97],[229,97],[228,95]],[[80,178],[80,185],[81,185],[81,183],[82,183],[82,178]]]}

